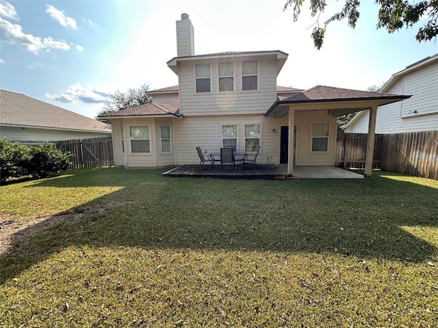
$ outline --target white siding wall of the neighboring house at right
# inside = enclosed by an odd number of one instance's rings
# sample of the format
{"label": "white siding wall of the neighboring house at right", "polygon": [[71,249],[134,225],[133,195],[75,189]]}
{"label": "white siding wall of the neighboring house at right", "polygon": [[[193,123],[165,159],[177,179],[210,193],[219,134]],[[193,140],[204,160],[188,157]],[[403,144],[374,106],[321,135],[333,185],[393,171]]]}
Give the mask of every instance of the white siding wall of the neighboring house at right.
{"label": "white siding wall of the neighboring house at right", "polygon": [[[385,92],[413,96],[378,107],[376,133],[438,130],[438,61],[400,77]],[[368,133],[368,118],[368,111],[363,111],[357,120],[346,128],[346,132]]]}

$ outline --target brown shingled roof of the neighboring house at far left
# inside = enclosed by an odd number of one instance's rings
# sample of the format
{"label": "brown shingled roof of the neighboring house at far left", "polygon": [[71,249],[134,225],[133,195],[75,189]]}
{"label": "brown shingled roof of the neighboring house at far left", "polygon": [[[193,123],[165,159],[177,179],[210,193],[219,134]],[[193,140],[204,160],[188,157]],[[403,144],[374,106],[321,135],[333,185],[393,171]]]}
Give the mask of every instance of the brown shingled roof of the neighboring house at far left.
{"label": "brown shingled roof of the neighboring house at far left", "polygon": [[0,125],[111,133],[109,124],[6,90],[0,90]]}

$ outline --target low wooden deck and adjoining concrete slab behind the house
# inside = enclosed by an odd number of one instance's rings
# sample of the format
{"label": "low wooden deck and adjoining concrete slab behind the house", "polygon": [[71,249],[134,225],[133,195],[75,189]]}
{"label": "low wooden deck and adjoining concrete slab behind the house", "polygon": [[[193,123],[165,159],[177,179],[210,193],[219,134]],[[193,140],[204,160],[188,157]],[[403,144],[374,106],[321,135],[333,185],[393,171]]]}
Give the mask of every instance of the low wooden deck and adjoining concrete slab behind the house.
{"label": "low wooden deck and adjoining concrete slab behind the house", "polygon": [[294,166],[294,176],[287,176],[287,164],[258,165],[245,167],[236,165],[220,168],[220,165],[181,165],[162,174],[170,177],[221,178],[246,180],[286,180],[286,179],[361,179],[363,176],[334,166]]}

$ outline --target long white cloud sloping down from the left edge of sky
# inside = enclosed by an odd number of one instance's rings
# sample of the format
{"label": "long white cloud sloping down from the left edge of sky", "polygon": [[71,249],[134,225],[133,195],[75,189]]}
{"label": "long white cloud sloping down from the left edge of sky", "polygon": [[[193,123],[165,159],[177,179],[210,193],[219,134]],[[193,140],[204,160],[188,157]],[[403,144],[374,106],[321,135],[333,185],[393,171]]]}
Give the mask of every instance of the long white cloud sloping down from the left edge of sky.
{"label": "long white cloud sloping down from the left edge of sky", "polygon": [[25,34],[21,29],[21,25],[12,24],[2,18],[0,18],[0,40],[2,42],[16,44],[35,54],[40,51],[51,51],[53,49],[70,49],[70,46],[64,41],[55,41],[51,37],[40,38],[31,34]]}

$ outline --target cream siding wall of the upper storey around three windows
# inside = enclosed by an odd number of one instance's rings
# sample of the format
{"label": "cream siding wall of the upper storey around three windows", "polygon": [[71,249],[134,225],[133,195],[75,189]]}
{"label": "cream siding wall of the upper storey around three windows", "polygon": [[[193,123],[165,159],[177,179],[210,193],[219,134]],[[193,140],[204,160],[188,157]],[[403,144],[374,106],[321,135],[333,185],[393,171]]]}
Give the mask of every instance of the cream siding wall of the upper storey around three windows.
{"label": "cream siding wall of the upper storey around three windows", "polygon": [[[259,59],[257,91],[242,89],[242,58],[235,61],[233,92],[218,92],[218,62],[211,62],[211,92],[196,93],[194,62],[181,64],[179,70],[180,110],[185,116],[263,114],[276,100],[276,59]],[[198,64],[198,63],[196,63]]]}

